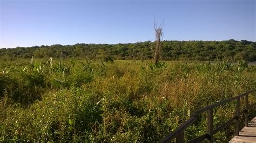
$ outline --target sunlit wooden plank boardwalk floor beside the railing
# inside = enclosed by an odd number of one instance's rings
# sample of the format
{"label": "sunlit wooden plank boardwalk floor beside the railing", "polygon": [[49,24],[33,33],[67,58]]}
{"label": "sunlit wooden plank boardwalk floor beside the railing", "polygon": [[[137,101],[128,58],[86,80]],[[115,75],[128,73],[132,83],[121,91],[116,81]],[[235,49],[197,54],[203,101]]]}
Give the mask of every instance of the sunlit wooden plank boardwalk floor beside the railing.
{"label": "sunlit wooden plank boardwalk floor beside the railing", "polygon": [[239,136],[235,136],[230,142],[256,142],[256,117],[248,123],[248,127],[242,128]]}

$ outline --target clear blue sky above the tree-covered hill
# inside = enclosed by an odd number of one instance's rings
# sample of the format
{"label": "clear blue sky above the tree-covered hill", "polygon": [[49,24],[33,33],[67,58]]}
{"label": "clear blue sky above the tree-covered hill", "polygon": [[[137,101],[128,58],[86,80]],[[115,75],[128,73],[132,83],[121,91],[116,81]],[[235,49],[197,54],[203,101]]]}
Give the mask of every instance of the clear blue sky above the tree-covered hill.
{"label": "clear blue sky above the tree-covered hill", "polygon": [[255,0],[0,0],[0,48],[154,40],[256,41]]}

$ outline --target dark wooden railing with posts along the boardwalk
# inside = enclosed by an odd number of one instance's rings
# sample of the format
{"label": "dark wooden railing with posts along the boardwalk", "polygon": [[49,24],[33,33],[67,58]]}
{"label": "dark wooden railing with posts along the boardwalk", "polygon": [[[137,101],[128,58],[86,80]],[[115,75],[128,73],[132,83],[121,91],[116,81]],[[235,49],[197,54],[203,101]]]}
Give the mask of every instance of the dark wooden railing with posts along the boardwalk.
{"label": "dark wooden railing with posts along the boardwalk", "polygon": [[[244,114],[245,115],[245,126],[248,126],[248,110],[250,110],[256,103],[253,103],[252,105],[249,106],[248,104],[248,94],[251,92],[256,91],[256,89],[253,89],[251,91],[247,91],[244,94],[226,99],[224,101],[206,106],[205,108],[201,108],[194,112],[190,119],[188,119],[185,123],[183,123],[181,126],[179,126],[176,130],[173,132],[167,134],[164,138],[162,138],[159,142],[170,142],[174,138],[176,138],[176,142],[184,142],[184,131],[185,129],[190,126],[194,121],[197,120],[198,115],[201,113],[207,111],[207,133],[204,135],[201,135],[200,137],[194,138],[192,140],[189,140],[187,142],[199,142],[207,139],[208,142],[213,142],[213,134],[223,130],[226,126],[229,126],[233,123],[235,120],[235,135],[239,135],[240,131],[240,115]],[[240,104],[241,104],[241,98],[245,97],[245,109],[240,111]],[[218,126],[217,128],[213,128],[213,109],[216,106],[219,106],[221,104],[225,104],[231,101],[237,101],[237,105],[235,108],[235,116],[232,117],[230,120],[226,121],[224,124]]]}

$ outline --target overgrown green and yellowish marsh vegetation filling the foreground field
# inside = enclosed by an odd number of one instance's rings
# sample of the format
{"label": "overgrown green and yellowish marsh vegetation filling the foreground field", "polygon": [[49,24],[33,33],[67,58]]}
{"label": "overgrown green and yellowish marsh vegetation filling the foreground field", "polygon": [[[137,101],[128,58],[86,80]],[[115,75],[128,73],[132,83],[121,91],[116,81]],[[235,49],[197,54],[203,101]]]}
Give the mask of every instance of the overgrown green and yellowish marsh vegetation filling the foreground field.
{"label": "overgrown green and yellowish marsh vegetation filling the foreground field", "polygon": [[[150,61],[18,59],[1,61],[0,69],[4,142],[158,141],[193,111],[256,85],[256,66],[245,61],[154,66]],[[234,111],[235,103],[219,106],[214,126]],[[185,131],[186,140],[206,133],[206,124],[203,114]],[[233,134],[230,126],[214,139],[228,141]]]}

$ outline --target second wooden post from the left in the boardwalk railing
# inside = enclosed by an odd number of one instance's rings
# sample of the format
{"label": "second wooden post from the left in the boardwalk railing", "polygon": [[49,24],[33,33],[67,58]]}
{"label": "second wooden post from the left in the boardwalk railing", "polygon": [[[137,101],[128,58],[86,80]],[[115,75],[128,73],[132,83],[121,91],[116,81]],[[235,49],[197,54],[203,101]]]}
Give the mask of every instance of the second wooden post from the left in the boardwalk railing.
{"label": "second wooden post from the left in the boardwalk railing", "polygon": [[212,143],[213,142],[213,109],[210,109],[207,112],[207,134],[209,135],[207,142]]}

